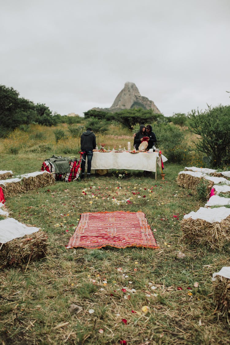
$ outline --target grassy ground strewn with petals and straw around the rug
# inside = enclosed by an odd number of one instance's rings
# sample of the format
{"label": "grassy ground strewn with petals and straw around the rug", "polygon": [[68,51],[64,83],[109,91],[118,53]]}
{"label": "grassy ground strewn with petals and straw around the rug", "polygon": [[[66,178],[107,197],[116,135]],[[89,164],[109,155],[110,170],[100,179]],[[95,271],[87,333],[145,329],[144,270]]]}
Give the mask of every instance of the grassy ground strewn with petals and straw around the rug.
{"label": "grassy ground strewn with petals and straw around the rug", "polygon": [[[40,170],[45,158],[78,145],[78,139],[56,145],[51,135],[41,142],[30,133],[14,135],[0,142],[0,169],[16,174]],[[110,146],[128,141],[102,139]],[[220,252],[182,242],[183,215],[204,206],[177,185],[183,169],[166,162],[166,179],[158,174],[156,181],[142,171],[120,179],[112,170],[9,198],[10,216],[43,229],[49,247],[27,269],[0,271],[0,344],[229,344],[211,277],[229,266],[230,247]],[[159,249],[66,249],[81,213],[117,210],[143,211]],[[185,257],[177,258],[178,251]],[[78,313],[68,310],[71,304]]]}

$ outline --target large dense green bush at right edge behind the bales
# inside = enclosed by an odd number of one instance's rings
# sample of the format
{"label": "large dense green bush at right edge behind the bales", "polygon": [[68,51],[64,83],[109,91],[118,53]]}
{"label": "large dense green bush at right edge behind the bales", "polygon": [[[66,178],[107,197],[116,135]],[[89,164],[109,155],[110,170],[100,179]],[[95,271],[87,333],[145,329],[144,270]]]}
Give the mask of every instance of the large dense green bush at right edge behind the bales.
{"label": "large dense green bush at right edge behind the bales", "polygon": [[210,157],[212,167],[230,164],[230,106],[218,106],[204,112],[192,110],[190,130],[198,135],[197,150]]}

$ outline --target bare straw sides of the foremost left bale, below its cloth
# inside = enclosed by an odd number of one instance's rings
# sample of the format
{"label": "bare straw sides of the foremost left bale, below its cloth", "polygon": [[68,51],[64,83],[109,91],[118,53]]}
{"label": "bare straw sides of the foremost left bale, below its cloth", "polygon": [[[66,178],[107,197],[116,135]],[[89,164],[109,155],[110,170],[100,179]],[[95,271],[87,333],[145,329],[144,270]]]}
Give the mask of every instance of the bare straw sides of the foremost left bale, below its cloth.
{"label": "bare straw sides of the foremost left bale, below its cloth", "polygon": [[2,244],[0,249],[0,269],[7,266],[21,266],[46,255],[47,235],[39,230],[36,233],[15,238]]}

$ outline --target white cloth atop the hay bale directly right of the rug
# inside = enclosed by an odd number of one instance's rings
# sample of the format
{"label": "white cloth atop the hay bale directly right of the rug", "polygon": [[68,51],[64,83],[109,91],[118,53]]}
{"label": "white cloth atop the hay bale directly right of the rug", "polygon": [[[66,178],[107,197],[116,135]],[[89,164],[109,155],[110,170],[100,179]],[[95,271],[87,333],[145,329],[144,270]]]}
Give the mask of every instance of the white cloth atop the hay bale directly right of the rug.
{"label": "white cloth atop the hay bale directly right of the rug", "polygon": [[218,207],[218,208],[206,208],[200,207],[198,211],[190,212],[187,215],[184,215],[184,219],[203,219],[209,223],[220,223],[221,220],[226,219],[230,216],[230,208]]}

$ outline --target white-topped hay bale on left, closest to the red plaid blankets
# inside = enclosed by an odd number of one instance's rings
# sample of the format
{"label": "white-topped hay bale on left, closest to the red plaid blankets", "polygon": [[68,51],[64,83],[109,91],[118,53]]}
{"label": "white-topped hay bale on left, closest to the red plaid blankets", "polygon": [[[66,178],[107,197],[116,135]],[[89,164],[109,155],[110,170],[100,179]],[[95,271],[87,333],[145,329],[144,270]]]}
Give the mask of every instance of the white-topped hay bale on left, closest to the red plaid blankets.
{"label": "white-topped hay bale on left, closest to the red plaid blankets", "polygon": [[22,177],[25,191],[50,186],[55,183],[55,178],[48,171],[35,171],[30,174],[24,174]]}

